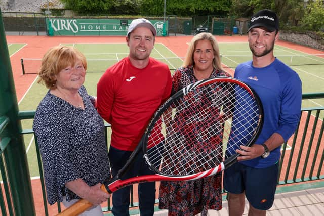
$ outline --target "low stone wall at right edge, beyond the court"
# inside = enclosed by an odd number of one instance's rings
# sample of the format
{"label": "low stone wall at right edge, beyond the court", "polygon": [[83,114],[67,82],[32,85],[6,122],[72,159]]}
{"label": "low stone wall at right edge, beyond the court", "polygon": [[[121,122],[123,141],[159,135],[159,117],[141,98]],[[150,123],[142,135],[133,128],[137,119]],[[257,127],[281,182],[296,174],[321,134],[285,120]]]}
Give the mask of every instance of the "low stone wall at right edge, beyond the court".
{"label": "low stone wall at right edge, beyond the court", "polygon": [[315,33],[299,33],[293,31],[280,30],[279,38],[287,40],[295,44],[312,47],[318,50],[324,50],[324,38],[319,37]]}

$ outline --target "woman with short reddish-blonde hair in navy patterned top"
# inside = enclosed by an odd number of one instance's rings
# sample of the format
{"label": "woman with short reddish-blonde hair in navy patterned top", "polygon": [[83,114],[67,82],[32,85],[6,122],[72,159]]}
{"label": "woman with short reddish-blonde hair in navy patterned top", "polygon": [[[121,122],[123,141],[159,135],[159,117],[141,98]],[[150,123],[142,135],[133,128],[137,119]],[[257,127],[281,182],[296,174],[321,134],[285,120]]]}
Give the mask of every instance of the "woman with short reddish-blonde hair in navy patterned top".
{"label": "woman with short reddish-blonde hair in navy patterned top", "polygon": [[38,105],[33,129],[41,150],[49,204],[65,207],[80,198],[94,204],[82,215],[102,215],[110,195],[100,190],[110,178],[104,122],[88,95],[85,56],[71,47],[51,48],[42,59],[39,82],[49,89]]}

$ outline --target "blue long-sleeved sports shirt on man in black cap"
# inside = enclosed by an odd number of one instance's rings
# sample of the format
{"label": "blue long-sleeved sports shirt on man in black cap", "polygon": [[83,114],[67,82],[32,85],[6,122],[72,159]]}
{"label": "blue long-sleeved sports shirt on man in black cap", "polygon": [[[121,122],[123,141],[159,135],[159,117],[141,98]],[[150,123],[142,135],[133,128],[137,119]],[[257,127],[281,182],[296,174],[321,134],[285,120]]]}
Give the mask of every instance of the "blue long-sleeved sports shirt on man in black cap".
{"label": "blue long-sleeved sports shirt on man in black cap", "polygon": [[[268,66],[256,68],[252,61],[242,63],[235,69],[237,78],[256,91],[264,111],[262,131],[256,144],[263,144],[273,133],[285,141],[295,132],[301,114],[302,84],[298,74],[277,58]],[[267,158],[255,158],[241,163],[264,168],[280,159],[280,147],[272,150]]]}

